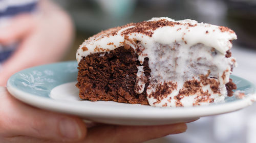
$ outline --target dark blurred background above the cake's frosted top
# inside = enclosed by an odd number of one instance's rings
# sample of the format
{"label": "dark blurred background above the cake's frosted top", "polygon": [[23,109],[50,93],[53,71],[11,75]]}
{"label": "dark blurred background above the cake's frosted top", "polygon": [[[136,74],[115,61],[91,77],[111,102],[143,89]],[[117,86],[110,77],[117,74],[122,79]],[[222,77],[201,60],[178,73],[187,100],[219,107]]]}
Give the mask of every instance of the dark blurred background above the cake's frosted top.
{"label": "dark blurred background above the cake's frosted top", "polygon": [[[224,25],[238,35],[234,45],[256,50],[256,1],[253,0],[54,0],[74,20],[78,45],[102,30],[152,17]],[[76,50],[72,49],[72,52]],[[70,54],[71,55],[71,54]],[[73,53],[74,55],[74,53]],[[65,60],[75,60],[74,56]]]}

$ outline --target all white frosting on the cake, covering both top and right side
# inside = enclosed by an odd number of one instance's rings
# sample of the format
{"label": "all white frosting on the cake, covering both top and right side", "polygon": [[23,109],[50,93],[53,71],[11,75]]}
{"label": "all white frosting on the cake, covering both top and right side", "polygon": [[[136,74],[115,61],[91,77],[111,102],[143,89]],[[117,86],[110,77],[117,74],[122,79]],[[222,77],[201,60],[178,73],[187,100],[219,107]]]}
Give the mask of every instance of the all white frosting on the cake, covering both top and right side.
{"label": "all white frosting on the cake, covering both top and right side", "polygon": [[[227,95],[225,84],[229,81],[231,74],[230,65],[236,66],[234,59],[225,58],[225,54],[232,46],[229,40],[237,39],[236,34],[231,30],[222,31],[222,27],[217,25],[198,23],[190,19],[175,21],[167,17],[160,17],[148,21],[161,19],[180,24],[148,30],[148,32],[153,33],[152,36],[137,32],[122,34],[125,30],[136,27],[134,25],[120,29],[116,35],[96,35],[80,45],[76,55],[77,62],[79,63],[83,56],[95,52],[110,51],[128,44],[134,49],[141,49],[142,52],[139,53],[138,57],[140,63],[143,63],[146,57],[149,59],[148,66],[151,69],[151,78],[150,85],[146,90],[147,95],[154,93],[159,83],[171,81],[177,84],[177,88],[163,98],[161,102],[157,102],[154,97],[147,97],[150,105],[177,106],[175,96],[183,88],[184,82],[193,79],[200,80],[198,75],[206,75],[208,70],[210,70],[209,77],[215,77],[216,81],[220,81],[220,93],[214,94],[209,85],[202,85],[202,89],[204,92],[208,92],[214,101],[223,101]],[[125,36],[129,36],[130,40],[127,40]],[[140,41],[140,43],[135,44],[134,40]],[[83,47],[86,47],[86,50]],[[198,60],[198,58],[201,59]],[[145,86],[142,79],[144,76],[143,67],[140,66],[138,69],[136,85],[143,88],[138,89],[136,93],[142,93]],[[224,79],[223,73],[225,74]],[[191,106],[196,104],[197,99],[197,95],[184,96],[180,102],[183,106]],[[208,101],[198,104],[206,103]]]}

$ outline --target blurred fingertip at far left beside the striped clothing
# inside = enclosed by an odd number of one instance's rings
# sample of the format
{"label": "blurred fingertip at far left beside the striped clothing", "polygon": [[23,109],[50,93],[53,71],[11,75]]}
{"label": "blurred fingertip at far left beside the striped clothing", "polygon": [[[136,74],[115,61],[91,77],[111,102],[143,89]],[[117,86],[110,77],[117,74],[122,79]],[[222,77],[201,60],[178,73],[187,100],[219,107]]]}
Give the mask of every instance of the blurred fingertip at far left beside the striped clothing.
{"label": "blurred fingertip at far left beside the striped clothing", "polygon": [[14,17],[9,25],[0,28],[0,43],[7,45],[20,40],[33,30],[35,21],[34,16],[30,14]]}

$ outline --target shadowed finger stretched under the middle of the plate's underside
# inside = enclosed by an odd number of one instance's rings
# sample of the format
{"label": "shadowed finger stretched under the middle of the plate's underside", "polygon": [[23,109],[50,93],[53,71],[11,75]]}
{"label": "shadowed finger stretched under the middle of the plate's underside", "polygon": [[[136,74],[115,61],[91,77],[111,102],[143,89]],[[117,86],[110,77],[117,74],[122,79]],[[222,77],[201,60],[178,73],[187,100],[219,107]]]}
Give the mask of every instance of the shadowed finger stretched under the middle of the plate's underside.
{"label": "shadowed finger stretched under the middle of the plate's underside", "polygon": [[185,132],[186,124],[159,126],[114,126],[102,125],[88,129],[84,142],[143,142],[168,134]]}

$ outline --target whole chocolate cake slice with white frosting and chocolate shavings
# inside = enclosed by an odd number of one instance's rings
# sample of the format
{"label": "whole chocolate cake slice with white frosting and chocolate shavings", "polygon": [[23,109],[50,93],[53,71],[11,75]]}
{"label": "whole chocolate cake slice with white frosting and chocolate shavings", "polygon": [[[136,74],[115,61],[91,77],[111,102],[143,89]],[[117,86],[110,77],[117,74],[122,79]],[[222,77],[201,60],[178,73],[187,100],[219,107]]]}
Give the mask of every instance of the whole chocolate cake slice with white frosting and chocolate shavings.
{"label": "whole chocolate cake slice with white frosting and chocolate shavings", "polygon": [[157,107],[223,101],[236,84],[227,27],[167,17],[102,31],[77,50],[79,97]]}

